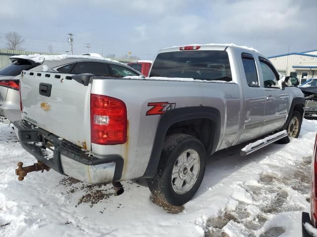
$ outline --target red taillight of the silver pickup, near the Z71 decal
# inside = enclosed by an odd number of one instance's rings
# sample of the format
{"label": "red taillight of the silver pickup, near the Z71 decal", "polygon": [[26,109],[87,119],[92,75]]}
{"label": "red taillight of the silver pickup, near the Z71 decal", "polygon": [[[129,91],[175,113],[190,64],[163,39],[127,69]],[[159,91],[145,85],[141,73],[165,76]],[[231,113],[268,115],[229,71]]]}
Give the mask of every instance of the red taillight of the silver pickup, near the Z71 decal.
{"label": "red taillight of the silver pickup, near the Z71 decal", "polygon": [[92,143],[114,145],[127,141],[127,108],[121,100],[91,94],[90,123]]}

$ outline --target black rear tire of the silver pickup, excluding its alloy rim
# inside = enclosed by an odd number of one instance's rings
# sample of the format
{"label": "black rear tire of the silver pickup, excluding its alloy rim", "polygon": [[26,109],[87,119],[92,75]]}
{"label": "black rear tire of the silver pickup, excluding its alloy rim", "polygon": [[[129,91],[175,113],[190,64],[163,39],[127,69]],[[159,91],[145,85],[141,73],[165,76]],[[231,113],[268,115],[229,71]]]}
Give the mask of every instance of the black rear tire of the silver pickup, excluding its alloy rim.
{"label": "black rear tire of the silver pickup, excluding its alloy rim", "polygon": [[[180,155],[188,149],[192,149],[198,153],[200,165],[198,176],[193,187],[185,194],[177,194],[172,187],[172,170],[176,165],[177,159]],[[149,189],[155,199],[160,202],[181,206],[188,202],[197,192],[200,187],[206,169],[206,151],[196,137],[187,134],[173,134],[165,138],[159,167],[154,178],[148,179]],[[183,184],[184,185],[184,184]]]}

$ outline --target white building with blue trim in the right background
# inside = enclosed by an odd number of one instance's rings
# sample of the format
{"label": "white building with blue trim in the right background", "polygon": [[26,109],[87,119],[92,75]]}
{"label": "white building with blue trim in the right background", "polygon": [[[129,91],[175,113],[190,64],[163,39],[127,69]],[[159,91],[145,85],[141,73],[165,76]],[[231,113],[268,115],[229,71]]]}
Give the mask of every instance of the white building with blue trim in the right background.
{"label": "white building with blue trim in the right background", "polygon": [[268,57],[281,75],[295,76],[301,84],[317,77],[317,49]]}

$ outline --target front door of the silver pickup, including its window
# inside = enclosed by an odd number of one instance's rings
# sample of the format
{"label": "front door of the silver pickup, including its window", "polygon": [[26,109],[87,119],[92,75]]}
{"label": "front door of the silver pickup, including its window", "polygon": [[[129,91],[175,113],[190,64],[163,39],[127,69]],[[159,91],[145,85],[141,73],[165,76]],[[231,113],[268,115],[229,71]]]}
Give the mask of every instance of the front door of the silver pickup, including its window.
{"label": "front door of the silver pickup, including its window", "polygon": [[271,63],[259,57],[264,82],[265,113],[261,135],[280,129],[288,115],[289,94],[280,88],[279,75]]}

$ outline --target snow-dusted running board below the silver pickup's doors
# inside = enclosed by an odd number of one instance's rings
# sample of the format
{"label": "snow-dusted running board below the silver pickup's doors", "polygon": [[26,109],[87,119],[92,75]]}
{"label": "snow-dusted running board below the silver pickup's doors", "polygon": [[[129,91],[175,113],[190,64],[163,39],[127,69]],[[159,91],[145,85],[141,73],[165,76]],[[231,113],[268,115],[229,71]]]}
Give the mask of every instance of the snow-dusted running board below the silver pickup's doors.
{"label": "snow-dusted running board below the silver pickup's doors", "polygon": [[283,137],[287,137],[287,131],[283,130],[280,132],[277,132],[273,135],[267,136],[264,139],[260,139],[256,142],[250,143],[247,146],[245,146],[244,148],[241,149],[240,151],[240,156],[247,156],[261,148],[264,148],[265,146],[267,146],[268,144],[271,144],[273,142],[278,141],[279,139],[283,138]]}

